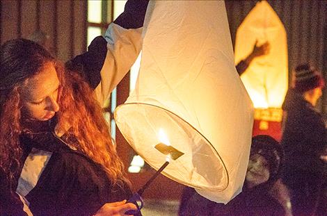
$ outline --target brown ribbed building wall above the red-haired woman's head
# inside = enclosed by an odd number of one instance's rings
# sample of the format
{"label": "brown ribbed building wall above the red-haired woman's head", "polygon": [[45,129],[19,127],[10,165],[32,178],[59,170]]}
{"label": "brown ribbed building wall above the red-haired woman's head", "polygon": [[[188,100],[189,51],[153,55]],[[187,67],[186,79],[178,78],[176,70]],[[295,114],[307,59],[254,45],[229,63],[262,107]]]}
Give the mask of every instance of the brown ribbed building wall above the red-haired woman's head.
{"label": "brown ribbed building wall above the red-haired woman's head", "polygon": [[0,1],[0,44],[41,30],[54,54],[68,60],[86,50],[86,1]]}

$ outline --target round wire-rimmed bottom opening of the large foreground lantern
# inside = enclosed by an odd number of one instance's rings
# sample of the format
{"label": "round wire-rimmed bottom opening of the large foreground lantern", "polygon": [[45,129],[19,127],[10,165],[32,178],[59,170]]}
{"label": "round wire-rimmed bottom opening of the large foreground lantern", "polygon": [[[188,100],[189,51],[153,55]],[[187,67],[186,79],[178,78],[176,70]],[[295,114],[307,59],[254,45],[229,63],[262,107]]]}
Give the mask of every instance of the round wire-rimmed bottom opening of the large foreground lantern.
{"label": "round wire-rimmed bottom opening of the large foreground lantern", "polygon": [[[182,117],[147,103],[124,103],[116,108],[114,115],[127,142],[154,169],[159,169],[170,155],[173,160],[162,172],[164,176],[193,188],[221,191],[228,186],[228,172],[221,156],[212,143]],[[158,138],[162,128],[173,143],[167,142],[168,138]],[[158,140],[159,144],[150,144]]]}

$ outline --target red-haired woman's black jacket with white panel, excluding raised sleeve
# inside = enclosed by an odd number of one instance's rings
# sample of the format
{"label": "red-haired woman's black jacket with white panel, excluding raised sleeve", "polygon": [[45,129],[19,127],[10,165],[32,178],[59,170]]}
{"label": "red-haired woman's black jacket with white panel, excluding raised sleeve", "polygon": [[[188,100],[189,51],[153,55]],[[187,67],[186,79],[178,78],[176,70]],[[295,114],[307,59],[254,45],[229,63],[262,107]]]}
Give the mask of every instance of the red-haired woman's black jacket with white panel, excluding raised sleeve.
{"label": "red-haired woman's black jacket with white panel, excluding raised sleeve", "polygon": [[112,185],[102,165],[70,149],[54,133],[23,135],[21,140],[28,156],[17,192],[33,215],[93,215],[104,203],[131,197],[126,183]]}

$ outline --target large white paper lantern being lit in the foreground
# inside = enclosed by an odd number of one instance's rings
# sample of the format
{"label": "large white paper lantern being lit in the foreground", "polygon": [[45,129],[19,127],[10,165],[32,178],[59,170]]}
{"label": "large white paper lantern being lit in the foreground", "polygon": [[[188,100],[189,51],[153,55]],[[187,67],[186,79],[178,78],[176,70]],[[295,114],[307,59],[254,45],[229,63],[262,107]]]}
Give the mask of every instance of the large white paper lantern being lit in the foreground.
{"label": "large white paper lantern being lit in the foreground", "polygon": [[116,124],[154,169],[167,159],[157,144],[184,153],[162,174],[226,203],[244,182],[253,105],[234,67],[225,4],[150,1],[144,26],[136,88]]}

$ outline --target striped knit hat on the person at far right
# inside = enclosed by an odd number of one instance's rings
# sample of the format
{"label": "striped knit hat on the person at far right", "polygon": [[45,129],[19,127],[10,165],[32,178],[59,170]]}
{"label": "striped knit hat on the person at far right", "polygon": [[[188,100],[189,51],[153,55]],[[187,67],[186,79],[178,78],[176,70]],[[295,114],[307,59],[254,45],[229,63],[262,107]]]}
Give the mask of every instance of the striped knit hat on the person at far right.
{"label": "striped knit hat on the person at far right", "polygon": [[298,65],[294,70],[294,89],[297,92],[306,92],[314,88],[324,88],[324,78],[321,73],[308,64]]}

